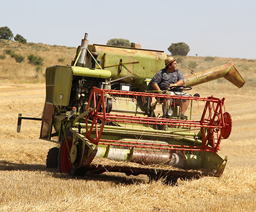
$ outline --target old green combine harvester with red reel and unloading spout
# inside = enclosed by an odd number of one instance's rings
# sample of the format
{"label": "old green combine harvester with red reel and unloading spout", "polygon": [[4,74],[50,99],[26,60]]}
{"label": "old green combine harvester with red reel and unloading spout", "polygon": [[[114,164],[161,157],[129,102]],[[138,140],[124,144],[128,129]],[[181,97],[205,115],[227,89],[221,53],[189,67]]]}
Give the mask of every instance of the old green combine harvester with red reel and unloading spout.
{"label": "old green combine harvester with red reel and unloading spout", "polygon": [[[217,152],[232,129],[224,98],[183,91],[221,77],[237,87],[245,81],[227,63],[185,77],[179,92],[146,91],[166,57],[159,50],[88,45],[86,33],[70,66],[47,67],[42,118],[19,114],[17,131],[22,119],[41,120],[40,139],[59,144],[49,150],[47,168],[63,173],[144,174],[168,183],[221,176],[227,157]],[[189,100],[190,116],[181,120],[175,104],[162,112],[160,99]]]}

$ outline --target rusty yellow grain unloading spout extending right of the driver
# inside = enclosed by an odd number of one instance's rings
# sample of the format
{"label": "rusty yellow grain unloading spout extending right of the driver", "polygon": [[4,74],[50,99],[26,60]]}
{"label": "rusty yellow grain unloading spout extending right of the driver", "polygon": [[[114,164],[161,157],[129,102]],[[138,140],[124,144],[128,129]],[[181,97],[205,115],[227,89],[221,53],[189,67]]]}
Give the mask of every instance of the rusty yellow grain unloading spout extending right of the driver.
{"label": "rusty yellow grain unloading spout extending right of the driver", "polygon": [[241,77],[240,73],[238,73],[238,70],[233,63],[226,63],[184,77],[185,86],[196,86],[197,84],[202,84],[222,77],[229,80],[229,82],[233,83],[238,88],[241,88],[243,84],[245,84],[245,80]]}

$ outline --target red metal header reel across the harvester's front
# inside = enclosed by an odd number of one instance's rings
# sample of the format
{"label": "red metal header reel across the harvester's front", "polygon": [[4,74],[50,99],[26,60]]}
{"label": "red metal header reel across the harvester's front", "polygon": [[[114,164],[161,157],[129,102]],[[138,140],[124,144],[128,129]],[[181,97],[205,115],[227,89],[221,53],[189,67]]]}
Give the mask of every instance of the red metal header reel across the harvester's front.
{"label": "red metal header reel across the harvester's front", "polygon": [[[123,101],[126,101],[126,99],[133,99],[133,101],[136,102],[138,99],[141,99],[143,103],[146,102],[146,99],[152,99],[153,97],[155,97],[155,99],[167,98],[202,101],[204,103],[204,110],[200,120],[148,117],[147,115],[137,116],[115,112],[107,113],[109,110],[109,103],[107,104],[108,100],[118,97],[122,98]],[[86,110],[90,109],[90,107],[96,107],[97,109],[86,116],[86,137],[95,145],[108,144],[119,147],[126,146],[144,149],[217,152],[220,149],[221,139],[227,138],[231,132],[232,121],[229,113],[224,111],[224,98],[218,99],[213,96],[179,96],[146,92],[104,90],[94,87],[90,94]],[[101,135],[105,131],[108,131],[109,123],[115,123],[114,126],[116,131],[123,130],[124,133],[148,134],[148,136],[155,138],[155,140],[158,140],[158,137],[162,135],[171,137],[179,134],[180,137],[185,137],[187,134],[191,134],[191,132],[197,132],[196,135],[201,139],[201,145],[174,145],[172,143],[169,143],[168,145],[152,145],[152,143],[149,144],[139,141],[127,142],[115,139],[102,139]],[[159,125],[168,126],[168,129],[170,130],[157,130],[157,126]],[[172,130],[174,128],[175,130]],[[177,131],[177,128],[183,130]],[[187,130],[184,131],[184,129]]]}

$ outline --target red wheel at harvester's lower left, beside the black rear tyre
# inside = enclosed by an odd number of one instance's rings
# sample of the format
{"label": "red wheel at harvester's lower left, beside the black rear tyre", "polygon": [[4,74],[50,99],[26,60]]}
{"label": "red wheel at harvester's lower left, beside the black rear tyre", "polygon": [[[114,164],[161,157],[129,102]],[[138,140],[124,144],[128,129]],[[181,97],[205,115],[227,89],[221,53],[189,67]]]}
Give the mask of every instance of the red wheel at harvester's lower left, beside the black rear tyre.
{"label": "red wheel at harvester's lower left, beside the black rear tyre", "polygon": [[66,142],[65,138],[63,137],[60,143],[58,167],[61,173],[70,173],[72,169],[72,163],[69,157],[69,152],[67,147],[67,143],[68,143],[69,150],[71,149],[71,146],[73,143],[72,137],[73,137],[72,135],[67,135],[68,142]]}

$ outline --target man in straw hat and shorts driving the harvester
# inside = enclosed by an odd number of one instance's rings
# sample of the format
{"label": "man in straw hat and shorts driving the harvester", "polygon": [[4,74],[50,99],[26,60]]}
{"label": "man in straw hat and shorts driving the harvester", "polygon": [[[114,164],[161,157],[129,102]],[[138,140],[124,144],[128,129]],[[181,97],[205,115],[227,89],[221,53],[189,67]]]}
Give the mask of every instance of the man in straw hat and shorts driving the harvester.
{"label": "man in straw hat and shorts driving the harvester", "polygon": [[[149,87],[152,87],[152,90],[155,91],[164,91],[173,86],[182,86],[184,84],[183,74],[177,69],[177,58],[167,57],[164,61],[166,67],[158,71],[155,76],[151,79]],[[171,99],[173,102],[173,100]],[[166,104],[166,101],[163,101]],[[184,115],[185,111],[188,108],[189,100],[180,99],[175,100],[176,105],[180,105],[180,118],[185,119],[187,116]]]}

